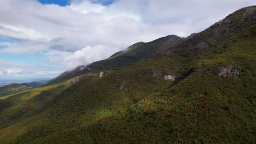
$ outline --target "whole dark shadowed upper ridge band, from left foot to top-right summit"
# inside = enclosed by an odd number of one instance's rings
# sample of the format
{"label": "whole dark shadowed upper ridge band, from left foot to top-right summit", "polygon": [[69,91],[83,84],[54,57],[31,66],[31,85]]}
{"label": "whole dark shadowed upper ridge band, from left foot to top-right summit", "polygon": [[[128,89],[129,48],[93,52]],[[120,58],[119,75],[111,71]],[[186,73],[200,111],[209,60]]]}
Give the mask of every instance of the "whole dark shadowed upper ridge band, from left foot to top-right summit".
{"label": "whole dark shadowed upper ridge band, from left foot to top-right summit", "polygon": [[[216,22],[205,31],[191,34],[188,38],[168,35],[167,37],[150,41],[149,43],[140,42],[134,44],[127,48],[128,51],[117,52],[103,61],[94,62],[86,67],[82,65],[72,71],[66,71],[59,77],[56,77],[56,79],[50,81],[49,84],[62,82],[90,71],[122,68],[142,59],[166,55],[168,52],[180,51],[183,55],[189,55],[188,53],[191,52],[210,51],[212,47],[218,46],[219,43],[222,43],[224,40],[232,37],[232,35],[241,32],[252,23],[255,23],[255,15],[255,7],[252,6],[237,10],[235,13],[225,17],[224,20]],[[184,49],[189,51],[185,53]]]}

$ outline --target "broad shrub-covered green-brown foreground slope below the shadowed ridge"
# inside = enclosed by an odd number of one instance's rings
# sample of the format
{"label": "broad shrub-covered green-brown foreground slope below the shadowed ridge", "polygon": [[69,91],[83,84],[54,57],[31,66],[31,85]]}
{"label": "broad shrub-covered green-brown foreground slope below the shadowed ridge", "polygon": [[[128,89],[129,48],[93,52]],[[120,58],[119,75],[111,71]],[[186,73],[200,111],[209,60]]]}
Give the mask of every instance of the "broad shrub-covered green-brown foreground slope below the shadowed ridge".
{"label": "broad shrub-covered green-brown foreground slope below the shadowed ridge", "polygon": [[[183,49],[186,55],[174,51],[102,78],[84,77],[42,112],[1,129],[0,142],[253,143],[255,29],[244,29],[210,52]],[[229,64],[243,74],[218,77],[216,69]],[[201,68],[207,70],[195,70]],[[183,78],[165,81],[148,76],[152,70]]]}

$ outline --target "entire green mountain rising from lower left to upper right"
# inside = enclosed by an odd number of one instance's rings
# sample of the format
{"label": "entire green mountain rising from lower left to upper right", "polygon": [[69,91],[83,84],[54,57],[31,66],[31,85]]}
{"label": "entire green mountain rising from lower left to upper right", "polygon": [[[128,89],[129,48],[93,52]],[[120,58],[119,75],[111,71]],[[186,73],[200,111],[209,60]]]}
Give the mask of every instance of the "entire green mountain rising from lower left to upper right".
{"label": "entire green mountain rising from lower left to upper right", "polygon": [[254,143],[256,6],[0,98],[0,143]]}

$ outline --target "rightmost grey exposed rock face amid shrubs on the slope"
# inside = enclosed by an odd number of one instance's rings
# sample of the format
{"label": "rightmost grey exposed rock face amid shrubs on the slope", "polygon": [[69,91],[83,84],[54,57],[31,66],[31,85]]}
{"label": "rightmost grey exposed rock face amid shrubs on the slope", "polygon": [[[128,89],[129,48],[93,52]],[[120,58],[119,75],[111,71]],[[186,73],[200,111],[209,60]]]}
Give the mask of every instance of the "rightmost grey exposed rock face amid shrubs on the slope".
{"label": "rightmost grey exposed rock face amid shrubs on the slope", "polygon": [[232,77],[234,75],[242,74],[242,71],[239,69],[235,69],[235,66],[232,64],[226,67],[218,68],[218,72],[219,77]]}

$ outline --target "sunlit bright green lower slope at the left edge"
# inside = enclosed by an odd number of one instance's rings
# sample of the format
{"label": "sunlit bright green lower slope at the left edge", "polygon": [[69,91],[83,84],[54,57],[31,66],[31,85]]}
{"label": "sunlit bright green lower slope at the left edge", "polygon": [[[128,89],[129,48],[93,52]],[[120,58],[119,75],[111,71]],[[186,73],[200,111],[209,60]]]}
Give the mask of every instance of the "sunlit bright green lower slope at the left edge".
{"label": "sunlit bright green lower slope at the left edge", "polygon": [[37,87],[0,98],[0,128],[7,127],[24,118],[31,117],[52,105],[51,100],[81,77],[56,85]]}

